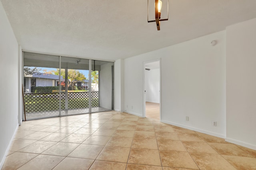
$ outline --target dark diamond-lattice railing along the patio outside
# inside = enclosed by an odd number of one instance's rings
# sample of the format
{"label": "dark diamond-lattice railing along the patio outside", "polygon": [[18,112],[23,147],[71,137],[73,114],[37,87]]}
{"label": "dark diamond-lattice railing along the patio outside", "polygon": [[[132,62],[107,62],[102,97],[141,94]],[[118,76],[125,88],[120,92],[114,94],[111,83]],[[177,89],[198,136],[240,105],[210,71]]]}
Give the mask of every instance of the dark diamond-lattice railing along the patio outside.
{"label": "dark diamond-lattice railing along the patio outside", "polygon": [[[61,109],[65,109],[65,93],[60,94]],[[25,93],[25,112],[59,110],[59,93]],[[68,92],[68,109],[89,107],[89,92]],[[99,107],[99,92],[92,92],[92,107]]]}

